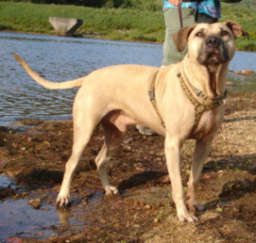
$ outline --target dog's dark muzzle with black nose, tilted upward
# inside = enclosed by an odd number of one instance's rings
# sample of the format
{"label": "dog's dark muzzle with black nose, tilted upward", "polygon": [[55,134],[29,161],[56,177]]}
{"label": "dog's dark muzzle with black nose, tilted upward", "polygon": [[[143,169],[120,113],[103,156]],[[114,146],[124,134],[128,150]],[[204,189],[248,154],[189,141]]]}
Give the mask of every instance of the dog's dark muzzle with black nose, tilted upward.
{"label": "dog's dark muzzle with black nose, tilted upward", "polygon": [[218,36],[208,37],[203,43],[198,62],[203,65],[218,65],[226,61],[229,61],[229,55],[223,39]]}

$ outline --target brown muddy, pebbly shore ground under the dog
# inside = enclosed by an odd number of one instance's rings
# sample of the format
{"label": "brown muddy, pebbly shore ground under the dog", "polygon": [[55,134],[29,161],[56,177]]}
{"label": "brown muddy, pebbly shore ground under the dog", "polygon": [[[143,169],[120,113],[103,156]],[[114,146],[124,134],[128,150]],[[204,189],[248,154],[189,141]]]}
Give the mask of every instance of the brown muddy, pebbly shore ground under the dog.
{"label": "brown muddy, pebbly shore ground under the dog", "polygon": [[[104,196],[94,164],[103,141],[102,129],[97,127],[72,184],[73,217],[79,220],[79,227],[68,225],[70,210],[62,210],[61,224],[52,229],[55,234],[42,238],[32,232],[20,239],[256,242],[256,93],[231,93],[226,107],[224,124],[212,144],[199,183],[198,197],[206,209],[196,213],[198,223],[177,221],[170,182],[166,182],[164,138],[142,136],[134,128],[128,130],[109,166],[111,182],[118,185],[121,194]],[[38,210],[42,203],[54,205],[72,138],[72,121],[23,120],[14,128],[2,127],[0,172],[14,177],[18,189],[0,188],[1,200],[39,199],[39,205],[33,205]],[[193,147],[193,141],[186,142],[181,154],[184,190]]]}

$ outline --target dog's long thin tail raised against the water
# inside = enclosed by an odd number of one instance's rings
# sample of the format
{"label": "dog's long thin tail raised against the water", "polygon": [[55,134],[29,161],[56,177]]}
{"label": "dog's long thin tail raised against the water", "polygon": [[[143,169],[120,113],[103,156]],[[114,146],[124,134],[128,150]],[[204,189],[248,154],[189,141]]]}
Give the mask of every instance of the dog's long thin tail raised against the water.
{"label": "dog's long thin tail raised against the water", "polygon": [[15,56],[15,59],[20,62],[21,66],[24,67],[26,72],[30,75],[31,78],[33,78],[35,81],[37,81],[39,84],[44,86],[44,88],[54,90],[54,89],[71,89],[74,87],[80,87],[83,84],[84,78],[78,78],[66,82],[61,82],[61,83],[54,83],[50,82],[38,75],[38,73],[34,72],[31,67],[28,66],[26,61],[24,61],[20,55],[17,55],[13,53]]}

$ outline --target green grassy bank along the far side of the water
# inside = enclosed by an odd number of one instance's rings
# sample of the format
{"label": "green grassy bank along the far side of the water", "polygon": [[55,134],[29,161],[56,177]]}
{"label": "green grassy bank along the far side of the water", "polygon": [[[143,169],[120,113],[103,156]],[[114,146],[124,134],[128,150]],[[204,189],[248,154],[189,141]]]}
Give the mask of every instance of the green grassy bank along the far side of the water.
{"label": "green grassy bank along the far side of the water", "polygon": [[[249,41],[239,38],[237,48],[256,50],[255,11],[224,4],[222,20],[236,20],[250,33]],[[256,9],[256,8],[255,8]],[[127,41],[164,41],[165,23],[161,11],[136,9],[92,9],[65,5],[0,2],[0,30],[55,34],[49,16],[84,20],[77,34]]]}

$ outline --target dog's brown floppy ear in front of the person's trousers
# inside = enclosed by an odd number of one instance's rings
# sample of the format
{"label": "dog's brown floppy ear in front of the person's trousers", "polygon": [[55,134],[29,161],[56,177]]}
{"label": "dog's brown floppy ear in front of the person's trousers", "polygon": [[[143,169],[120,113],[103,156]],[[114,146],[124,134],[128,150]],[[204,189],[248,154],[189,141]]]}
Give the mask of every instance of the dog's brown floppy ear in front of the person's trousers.
{"label": "dog's brown floppy ear in front of the person's trousers", "polygon": [[189,34],[195,29],[194,26],[188,26],[183,29],[180,29],[178,32],[175,32],[172,35],[173,41],[177,47],[177,51],[182,52],[188,43]]}

